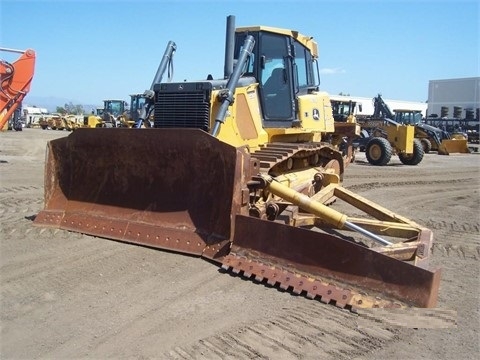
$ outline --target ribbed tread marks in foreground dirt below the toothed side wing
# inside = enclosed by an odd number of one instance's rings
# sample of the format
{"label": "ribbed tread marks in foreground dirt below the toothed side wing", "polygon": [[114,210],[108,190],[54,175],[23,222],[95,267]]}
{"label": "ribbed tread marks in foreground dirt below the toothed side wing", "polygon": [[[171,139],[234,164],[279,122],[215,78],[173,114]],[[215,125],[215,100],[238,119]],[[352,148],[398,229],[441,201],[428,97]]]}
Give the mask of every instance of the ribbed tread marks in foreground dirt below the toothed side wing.
{"label": "ribbed tread marks in foreground dirt below the toothed side wing", "polygon": [[272,319],[228,329],[164,353],[166,359],[350,359],[381,347],[394,330],[360,330],[357,315],[331,305],[298,299]]}

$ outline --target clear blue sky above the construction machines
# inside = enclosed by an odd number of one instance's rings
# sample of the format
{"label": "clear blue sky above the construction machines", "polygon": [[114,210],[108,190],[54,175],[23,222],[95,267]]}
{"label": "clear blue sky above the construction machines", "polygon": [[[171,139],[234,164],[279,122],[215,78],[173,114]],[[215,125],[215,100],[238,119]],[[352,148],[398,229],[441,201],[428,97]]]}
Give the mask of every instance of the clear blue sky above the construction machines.
{"label": "clear blue sky above the construction machines", "polygon": [[331,94],[426,101],[429,80],[480,76],[473,0],[0,0],[0,47],[36,51],[29,105],[102,104],[147,89],[169,40],[175,81],[222,77],[228,15],[313,36]]}

